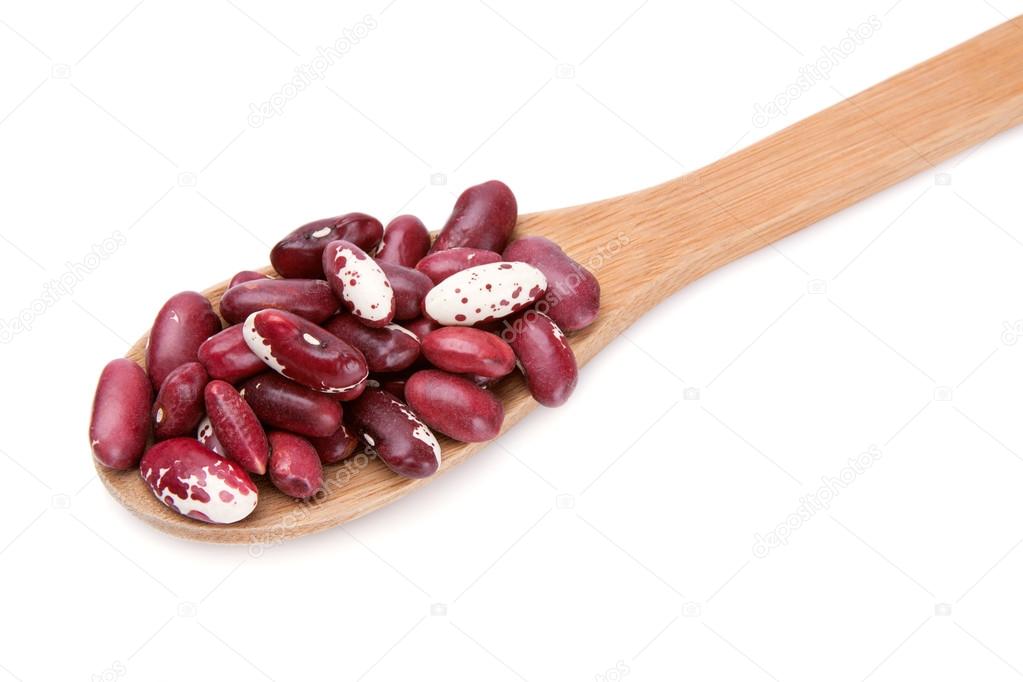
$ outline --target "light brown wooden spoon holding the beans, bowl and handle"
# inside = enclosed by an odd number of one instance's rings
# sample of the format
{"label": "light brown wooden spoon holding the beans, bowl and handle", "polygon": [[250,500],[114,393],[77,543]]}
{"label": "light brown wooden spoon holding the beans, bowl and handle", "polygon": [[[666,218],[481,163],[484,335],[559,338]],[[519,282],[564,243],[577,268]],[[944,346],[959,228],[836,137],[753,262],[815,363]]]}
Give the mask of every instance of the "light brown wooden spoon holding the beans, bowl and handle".
{"label": "light brown wooden spoon holding the beans, bowl and handle", "polygon": [[[582,365],[685,284],[1021,121],[1023,17],[695,173],[633,194],[523,216],[517,232],[550,237],[601,281],[599,319],[571,336]],[[217,305],[225,287],[205,293]],[[145,340],[128,357],[143,363]],[[536,407],[518,376],[495,391],[506,409],[505,429]],[[483,447],[446,439],[441,445],[440,472]],[[432,481],[402,479],[375,459],[357,459],[326,467],[322,499],[298,502],[261,481],[251,516],[215,526],[165,507],[138,471],[97,470],[123,505],[162,531],[255,544],[344,524]]]}

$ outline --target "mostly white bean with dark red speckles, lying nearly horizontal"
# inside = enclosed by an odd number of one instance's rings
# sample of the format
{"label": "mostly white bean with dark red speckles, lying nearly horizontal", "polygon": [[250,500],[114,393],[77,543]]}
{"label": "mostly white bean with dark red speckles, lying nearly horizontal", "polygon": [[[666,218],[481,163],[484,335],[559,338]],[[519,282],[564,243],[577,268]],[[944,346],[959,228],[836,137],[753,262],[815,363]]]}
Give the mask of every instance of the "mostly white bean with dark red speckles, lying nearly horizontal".
{"label": "mostly white bean with dark red speckles, lying nearly horizontal", "polygon": [[444,325],[472,326],[528,308],[547,280],[526,263],[490,263],[462,270],[430,289],[422,313]]}

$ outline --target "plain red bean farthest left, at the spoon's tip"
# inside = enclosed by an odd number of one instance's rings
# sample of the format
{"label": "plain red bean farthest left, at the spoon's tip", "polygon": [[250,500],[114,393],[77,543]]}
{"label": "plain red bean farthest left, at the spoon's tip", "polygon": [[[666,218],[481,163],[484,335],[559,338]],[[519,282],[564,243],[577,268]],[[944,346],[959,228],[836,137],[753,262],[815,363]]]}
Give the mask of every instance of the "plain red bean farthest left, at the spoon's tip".
{"label": "plain red bean farthest left, at the spoon's tip", "polygon": [[118,358],[103,367],[89,422],[97,462],[113,469],[130,469],[138,463],[149,436],[151,399],[149,377],[136,363]]}

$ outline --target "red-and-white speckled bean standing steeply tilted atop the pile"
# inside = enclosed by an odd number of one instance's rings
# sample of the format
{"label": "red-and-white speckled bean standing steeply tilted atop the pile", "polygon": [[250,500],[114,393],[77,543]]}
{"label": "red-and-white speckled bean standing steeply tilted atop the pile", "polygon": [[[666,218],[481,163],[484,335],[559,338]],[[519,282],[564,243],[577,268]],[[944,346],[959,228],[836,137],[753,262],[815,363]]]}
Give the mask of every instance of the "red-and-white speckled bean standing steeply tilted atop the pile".
{"label": "red-and-white speckled bean standing steeply tilted atop the pile", "polygon": [[345,310],[371,327],[394,319],[391,281],[376,262],[350,241],[331,241],[323,249],[323,272]]}

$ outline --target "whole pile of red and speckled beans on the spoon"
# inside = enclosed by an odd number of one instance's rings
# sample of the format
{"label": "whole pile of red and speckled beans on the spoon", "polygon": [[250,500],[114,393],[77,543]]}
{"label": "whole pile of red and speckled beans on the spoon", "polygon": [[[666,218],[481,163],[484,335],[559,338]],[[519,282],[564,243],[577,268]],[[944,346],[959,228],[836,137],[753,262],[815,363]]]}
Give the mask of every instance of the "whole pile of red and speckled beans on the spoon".
{"label": "whole pile of red and speckled beans on the spoon", "polygon": [[172,297],[146,369],[122,358],[99,377],[93,456],[138,467],[179,513],[230,524],[256,507],[251,474],[309,498],[360,444],[400,475],[431,475],[434,431],[500,433],[489,389],[516,367],[537,402],[562,405],[578,377],[565,332],[596,318],[599,285],[549,239],[508,243],[517,220],[493,180],[458,197],[433,243],[414,216],[385,230],[350,213],[281,239],[279,278],[236,274],[219,315],[195,291]]}

